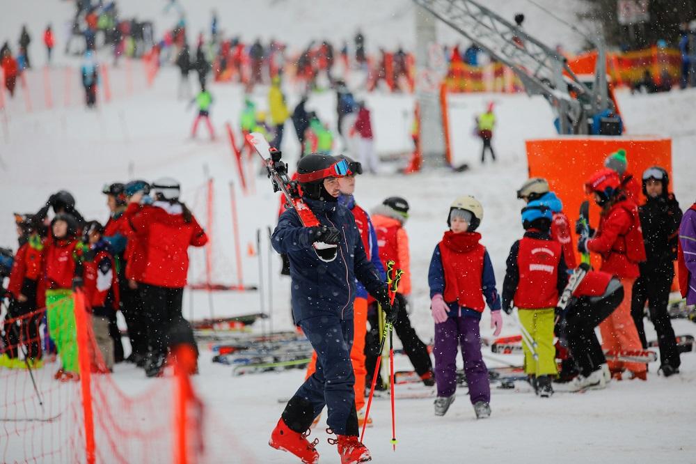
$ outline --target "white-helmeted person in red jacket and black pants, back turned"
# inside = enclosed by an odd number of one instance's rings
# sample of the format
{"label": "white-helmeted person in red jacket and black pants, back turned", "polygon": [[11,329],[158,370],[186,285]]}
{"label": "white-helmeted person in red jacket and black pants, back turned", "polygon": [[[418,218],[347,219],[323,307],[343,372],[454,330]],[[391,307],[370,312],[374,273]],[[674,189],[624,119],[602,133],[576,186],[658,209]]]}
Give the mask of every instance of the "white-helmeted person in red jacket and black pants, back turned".
{"label": "white-helmeted person in red jacket and black pants, back turned", "polygon": [[150,352],[145,362],[148,377],[159,375],[166,359],[166,333],[171,321],[181,317],[182,297],[189,271],[189,246],[208,241],[191,211],[179,201],[180,185],[171,178],[152,184],[152,205],[140,205],[142,194],[134,194],[125,212],[139,244],[132,261],[148,318]]}

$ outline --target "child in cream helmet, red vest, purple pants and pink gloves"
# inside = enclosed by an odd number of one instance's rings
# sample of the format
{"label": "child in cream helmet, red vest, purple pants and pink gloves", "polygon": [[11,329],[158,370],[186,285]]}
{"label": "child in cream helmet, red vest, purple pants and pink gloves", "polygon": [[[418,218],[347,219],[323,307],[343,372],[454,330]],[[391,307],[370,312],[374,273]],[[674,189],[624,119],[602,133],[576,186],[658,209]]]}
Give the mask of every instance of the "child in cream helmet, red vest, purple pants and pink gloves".
{"label": "child in cream helmet, red vest, purple pants and pink gloves", "polygon": [[500,298],[496,277],[486,248],[476,232],[483,219],[481,203],[473,196],[461,196],[450,205],[446,231],[435,247],[428,284],[435,321],[435,415],[445,415],[457,389],[457,345],[461,345],[469,397],[477,417],[490,415],[491,385],[481,355],[479,323],[484,297],[491,309],[491,327],[500,334]]}

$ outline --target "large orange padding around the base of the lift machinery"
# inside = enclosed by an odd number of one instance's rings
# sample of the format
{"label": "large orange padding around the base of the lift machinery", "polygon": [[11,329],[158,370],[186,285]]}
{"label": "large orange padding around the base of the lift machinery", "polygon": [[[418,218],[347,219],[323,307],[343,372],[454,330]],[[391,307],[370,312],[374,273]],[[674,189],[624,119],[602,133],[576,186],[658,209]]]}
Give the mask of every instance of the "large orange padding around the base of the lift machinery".
{"label": "large orange padding around the base of the lift machinery", "polygon": [[[610,154],[623,148],[628,160],[627,172],[640,183],[642,172],[661,166],[672,176],[672,139],[664,137],[558,137],[525,142],[530,177],[548,180],[551,190],[563,202],[563,210],[572,224],[579,216],[580,203],[590,200],[590,223],[599,224],[599,207],[585,194],[587,178],[604,167]],[[574,242],[577,238],[574,238]],[[596,260],[596,261],[595,261]],[[579,263],[578,258],[578,263]],[[593,264],[599,258],[593,254]]]}

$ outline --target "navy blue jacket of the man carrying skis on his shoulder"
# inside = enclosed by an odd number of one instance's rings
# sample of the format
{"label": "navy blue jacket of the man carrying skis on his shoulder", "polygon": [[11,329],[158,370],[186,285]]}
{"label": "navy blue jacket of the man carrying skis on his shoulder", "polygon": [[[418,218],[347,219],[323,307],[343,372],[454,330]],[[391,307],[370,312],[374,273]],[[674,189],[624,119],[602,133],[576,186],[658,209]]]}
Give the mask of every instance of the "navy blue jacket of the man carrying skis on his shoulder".
{"label": "navy blue jacket of the man carrying skis on his shoulder", "polygon": [[271,244],[276,252],[285,253],[290,259],[295,323],[325,314],[352,319],[356,279],[371,295],[386,284],[367,260],[353,213],[338,202],[307,198],[304,201],[320,223],[335,227],[341,234],[336,258],[326,263],[315,253],[309,231],[295,210],[291,208],[280,215]]}

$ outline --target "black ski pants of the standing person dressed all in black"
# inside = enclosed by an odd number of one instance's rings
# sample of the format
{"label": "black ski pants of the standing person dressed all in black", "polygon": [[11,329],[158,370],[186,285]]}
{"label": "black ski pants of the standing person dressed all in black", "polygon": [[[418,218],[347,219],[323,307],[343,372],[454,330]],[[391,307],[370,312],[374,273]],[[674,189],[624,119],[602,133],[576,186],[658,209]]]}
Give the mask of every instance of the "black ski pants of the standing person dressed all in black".
{"label": "black ski pants of the standing person dressed all in black", "polygon": [[657,341],[660,346],[661,364],[669,364],[677,369],[681,364],[677,340],[674,337],[672,321],[667,312],[670,302],[670,288],[674,279],[674,265],[672,261],[658,265],[646,265],[641,267],[640,277],[633,284],[633,299],[631,301],[631,316],[643,348],[647,348],[643,317],[645,303],[648,303],[650,320],[657,332]]}

